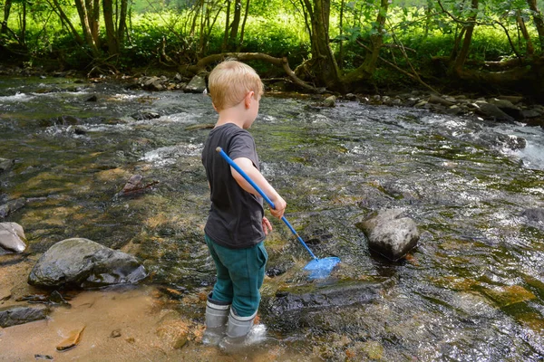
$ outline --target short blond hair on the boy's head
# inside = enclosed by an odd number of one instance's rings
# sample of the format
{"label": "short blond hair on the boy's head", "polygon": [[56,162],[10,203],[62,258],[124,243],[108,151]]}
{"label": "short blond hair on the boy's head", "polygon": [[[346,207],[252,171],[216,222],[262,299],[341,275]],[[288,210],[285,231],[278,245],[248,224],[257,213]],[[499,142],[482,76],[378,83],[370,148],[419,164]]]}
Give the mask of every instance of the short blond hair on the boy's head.
{"label": "short blond hair on the boy's head", "polygon": [[263,83],[248,64],[238,61],[220,62],[208,80],[209,95],[216,110],[226,110],[244,100],[249,91],[255,98],[263,94]]}

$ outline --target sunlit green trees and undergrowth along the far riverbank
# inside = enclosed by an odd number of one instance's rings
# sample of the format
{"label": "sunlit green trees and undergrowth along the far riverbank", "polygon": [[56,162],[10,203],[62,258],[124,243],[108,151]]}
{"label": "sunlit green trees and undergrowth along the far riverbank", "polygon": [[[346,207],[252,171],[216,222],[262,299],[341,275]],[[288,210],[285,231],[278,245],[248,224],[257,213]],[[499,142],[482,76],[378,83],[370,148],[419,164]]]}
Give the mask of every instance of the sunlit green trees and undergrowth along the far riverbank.
{"label": "sunlit green trees and undergrowth along the far riverbank", "polygon": [[[0,62],[93,75],[180,70],[210,54],[258,52],[287,57],[291,69],[304,64],[298,77],[340,91],[388,82],[431,88],[426,81],[446,77],[490,81],[474,71],[542,63],[536,0],[74,1],[0,1]],[[258,71],[282,74],[277,63],[256,59]],[[527,76],[518,73],[492,79],[500,86]]]}

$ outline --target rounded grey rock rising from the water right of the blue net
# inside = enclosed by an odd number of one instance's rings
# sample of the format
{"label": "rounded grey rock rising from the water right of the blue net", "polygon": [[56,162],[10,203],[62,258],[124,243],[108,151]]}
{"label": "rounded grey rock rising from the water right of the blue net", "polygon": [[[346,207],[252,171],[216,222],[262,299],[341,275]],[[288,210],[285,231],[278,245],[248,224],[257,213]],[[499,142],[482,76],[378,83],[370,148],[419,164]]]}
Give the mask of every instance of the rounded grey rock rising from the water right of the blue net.
{"label": "rounded grey rock rising from the water right of the blue net", "polygon": [[403,212],[403,209],[381,210],[356,225],[368,238],[370,249],[393,262],[412,250],[420,237],[415,222],[403,217]]}

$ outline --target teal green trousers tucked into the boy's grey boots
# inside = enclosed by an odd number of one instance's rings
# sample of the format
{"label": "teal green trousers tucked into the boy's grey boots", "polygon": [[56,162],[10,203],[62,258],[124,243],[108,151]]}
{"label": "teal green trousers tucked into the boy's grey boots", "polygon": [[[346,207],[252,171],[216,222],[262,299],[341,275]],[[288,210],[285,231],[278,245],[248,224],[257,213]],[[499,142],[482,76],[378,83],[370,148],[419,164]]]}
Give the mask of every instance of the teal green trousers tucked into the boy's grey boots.
{"label": "teal green trousers tucked into the boy's grey boots", "polygon": [[263,242],[245,249],[230,249],[204,236],[216,264],[217,277],[212,299],[232,304],[239,317],[255,314],[260,287],[265,279],[268,254]]}

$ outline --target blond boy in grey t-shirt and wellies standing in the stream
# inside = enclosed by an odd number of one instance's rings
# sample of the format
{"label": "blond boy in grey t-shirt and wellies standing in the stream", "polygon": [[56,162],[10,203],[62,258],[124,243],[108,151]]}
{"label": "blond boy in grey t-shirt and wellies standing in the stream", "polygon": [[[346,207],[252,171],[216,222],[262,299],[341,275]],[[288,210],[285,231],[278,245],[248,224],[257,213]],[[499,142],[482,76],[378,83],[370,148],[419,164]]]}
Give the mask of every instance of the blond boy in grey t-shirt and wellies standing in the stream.
{"label": "blond boy in grey t-shirt and wellies standing in the stream", "polygon": [[[272,215],[281,218],[285,200],[259,172],[255,141],[248,130],[257,118],[263,85],[257,72],[242,62],[221,62],[209,74],[209,95],[219,113],[202,151],[211,208],[204,228],[217,281],[206,306],[204,343],[237,344],[253,326],[265,277],[263,244],[272,225],[264,217],[257,191],[217,153],[221,147],[272,200]],[[228,325],[228,328],[227,328]]]}

